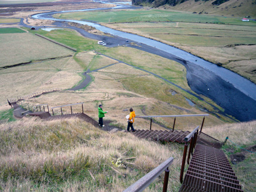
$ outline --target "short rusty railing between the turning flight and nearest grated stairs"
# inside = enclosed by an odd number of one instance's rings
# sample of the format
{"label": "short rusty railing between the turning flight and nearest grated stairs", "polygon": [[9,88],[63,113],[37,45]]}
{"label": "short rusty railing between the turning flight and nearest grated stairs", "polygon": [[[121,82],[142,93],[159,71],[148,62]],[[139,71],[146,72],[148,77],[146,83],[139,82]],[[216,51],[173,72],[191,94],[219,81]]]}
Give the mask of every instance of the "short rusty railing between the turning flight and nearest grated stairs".
{"label": "short rusty railing between the turning flight and nearest grated stairs", "polygon": [[[185,146],[183,150],[183,161],[181,164],[181,173],[180,173],[181,184],[183,183],[183,174],[184,174],[184,168],[186,164],[186,157],[187,157],[187,164],[189,164],[190,154],[193,155],[193,149],[196,146],[196,139],[198,138],[198,129],[199,129],[199,126],[197,126],[192,132],[190,132],[189,135],[187,135],[187,137],[184,138]],[[188,156],[187,156],[187,146],[189,146]]]}

